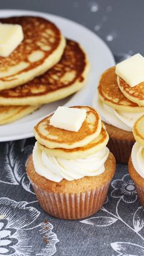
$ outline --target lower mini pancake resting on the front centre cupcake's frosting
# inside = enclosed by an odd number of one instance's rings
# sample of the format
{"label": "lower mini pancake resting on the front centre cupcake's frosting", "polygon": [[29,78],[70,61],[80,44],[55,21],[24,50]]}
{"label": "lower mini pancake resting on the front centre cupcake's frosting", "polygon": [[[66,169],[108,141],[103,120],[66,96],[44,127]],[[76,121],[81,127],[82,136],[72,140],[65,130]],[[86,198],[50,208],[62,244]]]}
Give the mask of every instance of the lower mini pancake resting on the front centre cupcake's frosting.
{"label": "lower mini pancake resting on the front centre cupcake's frosting", "polygon": [[[103,124],[102,124],[103,125]],[[64,159],[76,159],[76,158],[86,158],[99,150],[106,147],[109,141],[109,135],[106,132],[106,128],[103,125],[101,128],[101,133],[92,142],[85,145],[84,147],[77,147],[72,149],[67,148],[47,148],[38,143],[40,150],[44,151],[46,154],[51,156],[56,156]]]}

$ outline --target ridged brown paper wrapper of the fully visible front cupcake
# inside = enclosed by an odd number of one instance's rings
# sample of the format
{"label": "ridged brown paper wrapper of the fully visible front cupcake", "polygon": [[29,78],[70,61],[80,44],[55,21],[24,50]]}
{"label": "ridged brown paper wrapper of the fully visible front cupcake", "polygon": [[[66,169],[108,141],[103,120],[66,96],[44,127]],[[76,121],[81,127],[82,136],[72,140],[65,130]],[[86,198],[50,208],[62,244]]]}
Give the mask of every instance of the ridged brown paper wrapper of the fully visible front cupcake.
{"label": "ridged brown paper wrapper of the fully visible front cupcake", "polygon": [[106,200],[109,185],[110,182],[80,194],[64,194],[44,191],[32,183],[41,208],[59,219],[83,219],[96,213]]}

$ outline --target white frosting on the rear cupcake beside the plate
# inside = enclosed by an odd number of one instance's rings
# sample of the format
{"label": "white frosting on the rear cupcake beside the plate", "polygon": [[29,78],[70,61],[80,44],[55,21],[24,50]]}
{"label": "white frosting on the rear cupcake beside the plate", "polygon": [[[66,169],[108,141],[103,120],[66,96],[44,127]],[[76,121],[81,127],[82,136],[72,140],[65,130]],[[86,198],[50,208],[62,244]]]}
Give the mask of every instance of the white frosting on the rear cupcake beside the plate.
{"label": "white frosting on the rear cupcake beside the plate", "polygon": [[135,121],[144,114],[144,112],[132,113],[113,109],[98,98],[98,93],[93,99],[93,107],[99,112],[104,122],[124,131],[132,131]]}

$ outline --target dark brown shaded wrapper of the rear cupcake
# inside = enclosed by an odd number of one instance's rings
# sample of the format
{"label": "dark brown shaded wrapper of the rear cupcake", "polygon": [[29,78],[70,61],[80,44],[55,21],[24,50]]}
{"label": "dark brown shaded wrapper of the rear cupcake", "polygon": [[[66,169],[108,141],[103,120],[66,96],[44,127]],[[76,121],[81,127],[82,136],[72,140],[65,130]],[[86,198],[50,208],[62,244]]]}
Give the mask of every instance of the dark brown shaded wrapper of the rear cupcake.
{"label": "dark brown shaded wrapper of the rear cupcake", "polygon": [[107,147],[113,153],[118,163],[128,164],[134,143],[135,141],[121,141],[110,137]]}

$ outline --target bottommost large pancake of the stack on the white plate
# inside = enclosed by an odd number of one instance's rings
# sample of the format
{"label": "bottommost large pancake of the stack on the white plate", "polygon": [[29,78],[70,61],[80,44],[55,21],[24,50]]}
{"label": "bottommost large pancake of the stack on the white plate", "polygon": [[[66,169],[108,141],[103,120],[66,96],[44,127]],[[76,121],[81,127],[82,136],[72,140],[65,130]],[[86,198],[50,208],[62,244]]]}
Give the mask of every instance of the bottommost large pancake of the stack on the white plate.
{"label": "bottommost large pancake of the stack on the white plate", "polygon": [[38,108],[40,106],[0,106],[0,125],[21,119]]}

